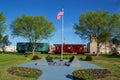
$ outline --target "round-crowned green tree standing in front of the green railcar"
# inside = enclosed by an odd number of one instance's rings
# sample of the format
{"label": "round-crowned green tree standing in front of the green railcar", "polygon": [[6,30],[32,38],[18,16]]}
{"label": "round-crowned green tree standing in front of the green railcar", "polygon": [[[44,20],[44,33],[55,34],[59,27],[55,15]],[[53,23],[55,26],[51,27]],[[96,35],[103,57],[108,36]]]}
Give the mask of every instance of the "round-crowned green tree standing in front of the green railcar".
{"label": "round-crowned green tree standing in front of the green railcar", "polygon": [[32,46],[34,55],[35,43],[52,36],[55,27],[52,22],[43,16],[27,16],[17,17],[11,23],[12,35],[26,38]]}

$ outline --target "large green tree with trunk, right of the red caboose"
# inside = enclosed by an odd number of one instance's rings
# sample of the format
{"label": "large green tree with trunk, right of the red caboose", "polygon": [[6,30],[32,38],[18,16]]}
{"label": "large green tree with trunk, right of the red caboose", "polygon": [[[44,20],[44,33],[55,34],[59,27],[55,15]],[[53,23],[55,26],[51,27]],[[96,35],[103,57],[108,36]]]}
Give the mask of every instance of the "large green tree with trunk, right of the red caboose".
{"label": "large green tree with trunk, right of the red caboose", "polygon": [[113,32],[116,31],[115,28],[119,23],[120,15],[117,13],[110,15],[107,11],[89,11],[80,15],[79,24],[75,24],[74,29],[75,33],[83,39],[90,39],[93,35],[97,42],[97,55],[99,55],[101,44],[111,40],[110,37],[115,35]]}

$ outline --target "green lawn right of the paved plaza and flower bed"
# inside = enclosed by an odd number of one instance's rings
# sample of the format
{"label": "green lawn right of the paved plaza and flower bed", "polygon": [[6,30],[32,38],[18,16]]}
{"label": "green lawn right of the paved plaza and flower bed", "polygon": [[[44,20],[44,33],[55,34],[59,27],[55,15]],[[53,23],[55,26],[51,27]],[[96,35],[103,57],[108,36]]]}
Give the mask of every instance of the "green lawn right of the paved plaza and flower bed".
{"label": "green lawn right of the paved plaza and flower bed", "polygon": [[101,80],[120,80],[120,55],[93,57],[92,63],[102,66],[111,71],[111,76]]}

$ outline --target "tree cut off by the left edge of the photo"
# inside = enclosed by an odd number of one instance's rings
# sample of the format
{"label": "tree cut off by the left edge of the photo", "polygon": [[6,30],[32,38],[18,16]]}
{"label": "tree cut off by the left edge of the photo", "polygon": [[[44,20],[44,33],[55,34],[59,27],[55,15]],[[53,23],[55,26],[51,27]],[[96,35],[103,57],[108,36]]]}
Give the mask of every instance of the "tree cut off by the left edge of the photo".
{"label": "tree cut off by the left edge of the photo", "polygon": [[3,13],[0,13],[0,47],[2,48],[3,52],[4,47],[10,44],[10,41],[8,39],[9,36],[5,35],[6,30],[5,21],[6,21],[5,16],[3,15]]}

